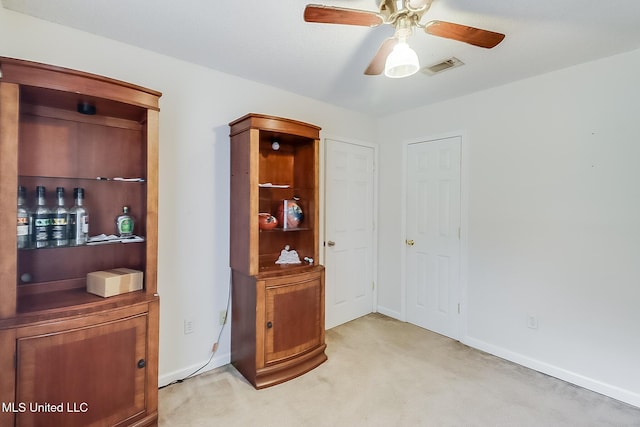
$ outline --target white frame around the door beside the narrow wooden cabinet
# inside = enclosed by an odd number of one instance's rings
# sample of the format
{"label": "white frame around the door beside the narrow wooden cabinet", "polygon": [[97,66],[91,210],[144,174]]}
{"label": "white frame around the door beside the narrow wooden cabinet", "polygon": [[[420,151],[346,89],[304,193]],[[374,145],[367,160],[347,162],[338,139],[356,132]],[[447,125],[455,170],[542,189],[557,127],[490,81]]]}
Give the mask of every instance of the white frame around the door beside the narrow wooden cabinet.
{"label": "white frame around the door beside the narrow wooden cabinet", "polygon": [[324,265],[326,247],[325,222],[326,222],[326,169],[327,169],[327,139],[339,141],[346,144],[360,145],[373,149],[373,248],[371,265],[373,267],[373,282],[375,287],[372,292],[373,304],[372,312],[378,311],[378,144],[360,141],[353,138],[342,138],[337,136],[325,136],[322,139],[322,155],[320,156],[320,264]]}

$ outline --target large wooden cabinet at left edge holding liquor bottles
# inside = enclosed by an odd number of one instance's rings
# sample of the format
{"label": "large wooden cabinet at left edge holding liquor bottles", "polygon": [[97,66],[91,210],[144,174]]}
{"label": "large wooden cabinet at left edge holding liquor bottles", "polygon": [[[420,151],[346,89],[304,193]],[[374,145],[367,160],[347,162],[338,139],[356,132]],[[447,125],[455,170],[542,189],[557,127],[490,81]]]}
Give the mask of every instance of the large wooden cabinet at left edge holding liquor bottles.
{"label": "large wooden cabinet at left edge holding liquor bottles", "polygon": [[[161,94],[10,58],[0,73],[0,425],[156,425]],[[29,207],[36,186],[48,207],[83,188],[91,236],[129,206],[144,240],[17,249],[18,185]],[[120,267],[143,289],[86,291],[87,273]]]}

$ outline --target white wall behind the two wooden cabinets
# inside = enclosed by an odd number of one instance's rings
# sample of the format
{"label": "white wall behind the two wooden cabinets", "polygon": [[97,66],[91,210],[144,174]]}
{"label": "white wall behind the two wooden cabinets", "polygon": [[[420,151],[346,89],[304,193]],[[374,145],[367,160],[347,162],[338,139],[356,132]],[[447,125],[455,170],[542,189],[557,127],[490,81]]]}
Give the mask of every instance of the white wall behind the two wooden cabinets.
{"label": "white wall behind the two wooden cabinets", "polygon": [[[211,354],[227,302],[228,123],[256,112],[316,124],[322,134],[374,140],[375,122],[279,89],[37,20],[0,7],[0,55],[116,78],[160,99],[160,384]],[[310,82],[312,84],[312,82]],[[195,332],[183,334],[183,319]],[[229,329],[207,369],[229,362]]]}

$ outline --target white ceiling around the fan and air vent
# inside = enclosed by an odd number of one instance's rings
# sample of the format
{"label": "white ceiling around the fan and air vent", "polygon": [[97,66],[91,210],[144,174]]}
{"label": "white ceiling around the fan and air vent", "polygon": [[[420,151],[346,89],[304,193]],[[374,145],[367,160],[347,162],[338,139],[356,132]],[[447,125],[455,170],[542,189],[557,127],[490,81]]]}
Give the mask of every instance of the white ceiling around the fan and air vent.
{"label": "white ceiling around the fan and air vent", "polygon": [[421,65],[465,65],[428,77],[365,76],[377,28],[303,21],[307,3],[376,11],[375,0],[2,0],[5,8],[381,116],[640,48],[640,1],[434,0],[423,21],[506,34],[487,50],[417,31]]}

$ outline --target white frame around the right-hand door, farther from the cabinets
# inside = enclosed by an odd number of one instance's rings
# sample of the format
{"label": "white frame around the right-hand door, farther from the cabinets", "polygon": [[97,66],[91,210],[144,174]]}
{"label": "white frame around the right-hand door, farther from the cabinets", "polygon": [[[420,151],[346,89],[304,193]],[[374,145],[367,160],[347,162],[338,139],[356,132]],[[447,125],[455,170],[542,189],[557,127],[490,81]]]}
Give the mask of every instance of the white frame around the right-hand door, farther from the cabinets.
{"label": "white frame around the right-hand door, farther from the cabinets", "polygon": [[402,321],[407,321],[407,274],[404,266],[407,265],[407,152],[409,145],[420,142],[430,142],[440,139],[460,137],[460,341],[466,341],[467,328],[467,271],[469,249],[469,137],[464,131],[452,131],[437,135],[425,136],[404,141],[402,143],[402,235],[400,245],[400,314]]}

